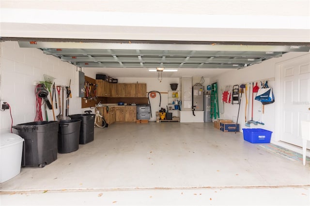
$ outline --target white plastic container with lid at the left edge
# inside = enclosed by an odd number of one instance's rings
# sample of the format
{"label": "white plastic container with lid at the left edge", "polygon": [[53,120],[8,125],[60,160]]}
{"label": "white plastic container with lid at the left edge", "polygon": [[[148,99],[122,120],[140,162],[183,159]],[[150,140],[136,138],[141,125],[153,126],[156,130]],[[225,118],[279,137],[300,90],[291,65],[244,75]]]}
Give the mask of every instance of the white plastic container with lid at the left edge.
{"label": "white plastic container with lid at the left edge", "polygon": [[17,134],[0,136],[0,183],[20,173],[24,139]]}

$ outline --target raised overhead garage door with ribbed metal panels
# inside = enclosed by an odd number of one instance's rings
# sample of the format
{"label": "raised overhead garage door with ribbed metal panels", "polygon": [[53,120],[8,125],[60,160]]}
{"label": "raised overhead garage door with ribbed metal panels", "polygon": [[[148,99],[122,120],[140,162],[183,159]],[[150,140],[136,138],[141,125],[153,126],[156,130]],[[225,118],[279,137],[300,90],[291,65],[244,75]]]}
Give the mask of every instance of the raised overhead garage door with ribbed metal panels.
{"label": "raised overhead garage door with ribbed metal panels", "polygon": [[[72,40],[71,40],[72,41]],[[84,40],[85,41],[85,40]],[[242,69],[286,52],[308,52],[309,45],[168,41],[19,41],[77,67]]]}

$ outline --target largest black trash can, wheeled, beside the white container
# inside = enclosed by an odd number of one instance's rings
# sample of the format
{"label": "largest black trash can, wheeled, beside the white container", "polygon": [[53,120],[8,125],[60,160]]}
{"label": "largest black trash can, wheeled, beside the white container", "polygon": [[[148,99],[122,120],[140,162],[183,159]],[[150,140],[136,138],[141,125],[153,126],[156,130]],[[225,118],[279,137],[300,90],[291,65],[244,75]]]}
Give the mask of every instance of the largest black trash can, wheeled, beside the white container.
{"label": "largest black trash can, wheeled, beside the white container", "polygon": [[22,166],[44,167],[57,160],[58,121],[35,121],[13,126],[25,142]]}

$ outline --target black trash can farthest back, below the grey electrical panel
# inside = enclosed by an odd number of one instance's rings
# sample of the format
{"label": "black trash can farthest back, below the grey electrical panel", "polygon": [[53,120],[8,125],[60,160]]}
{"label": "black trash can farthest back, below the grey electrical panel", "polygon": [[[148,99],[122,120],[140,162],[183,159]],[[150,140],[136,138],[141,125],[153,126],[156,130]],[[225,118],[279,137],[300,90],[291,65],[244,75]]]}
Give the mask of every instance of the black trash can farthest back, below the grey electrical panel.
{"label": "black trash can farthest back, below the grey electrical panel", "polygon": [[80,119],[81,127],[79,132],[79,144],[87,144],[93,141],[93,132],[95,124],[94,114],[70,115],[71,119]]}

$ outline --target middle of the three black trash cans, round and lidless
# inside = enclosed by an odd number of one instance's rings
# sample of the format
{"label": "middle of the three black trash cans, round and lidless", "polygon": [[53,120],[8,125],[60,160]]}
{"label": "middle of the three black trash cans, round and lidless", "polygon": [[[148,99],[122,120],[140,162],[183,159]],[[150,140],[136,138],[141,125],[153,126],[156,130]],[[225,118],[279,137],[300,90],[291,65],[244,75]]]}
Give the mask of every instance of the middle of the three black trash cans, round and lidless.
{"label": "middle of the three black trash cans, round and lidless", "polygon": [[69,153],[78,150],[80,119],[59,121],[58,153]]}

